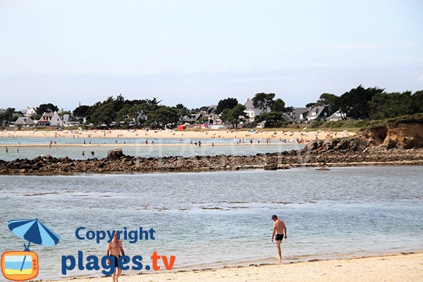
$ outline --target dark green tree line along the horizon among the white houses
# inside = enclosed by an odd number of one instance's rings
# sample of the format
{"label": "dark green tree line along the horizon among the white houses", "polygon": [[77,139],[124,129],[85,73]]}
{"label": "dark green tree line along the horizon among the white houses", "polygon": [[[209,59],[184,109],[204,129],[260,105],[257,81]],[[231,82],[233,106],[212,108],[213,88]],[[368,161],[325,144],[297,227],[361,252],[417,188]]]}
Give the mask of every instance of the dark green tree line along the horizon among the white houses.
{"label": "dark green tree line along the horizon among the white houses", "polygon": [[[259,109],[259,115],[255,116],[254,123],[264,122],[266,127],[280,127],[286,125],[284,113],[293,111],[293,106],[286,106],[281,98],[276,98],[274,93],[257,93],[252,98],[252,104]],[[208,106],[200,109],[188,109],[183,104],[166,106],[160,104],[157,98],[152,99],[125,99],[121,94],[115,97],[108,97],[102,102],[92,106],[82,105],[73,110],[73,116],[82,119],[86,123],[96,126],[128,125],[134,127],[164,128],[178,125],[183,116],[195,114],[200,111],[207,111]],[[329,115],[340,111],[344,118],[357,120],[374,120],[393,118],[409,114],[423,113],[423,90],[415,93],[406,92],[385,92],[379,87],[364,88],[362,85],[343,93],[341,96],[331,93],[323,93],[316,102],[305,105],[327,106]],[[59,108],[51,103],[40,104],[34,119],[39,119],[44,113],[58,111]],[[238,99],[228,97],[221,99],[216,109],[211,114],[219,115],[223,123],[232,124],[238,128],[241,122],[248,123],[246,108],[240,104]],[[69,113],[62,112],[61,115]],[[13,108],[0,111],[0,125],[8,125],[16,121],[19,114]],[[199,122],[204,122],[200,118]]]}

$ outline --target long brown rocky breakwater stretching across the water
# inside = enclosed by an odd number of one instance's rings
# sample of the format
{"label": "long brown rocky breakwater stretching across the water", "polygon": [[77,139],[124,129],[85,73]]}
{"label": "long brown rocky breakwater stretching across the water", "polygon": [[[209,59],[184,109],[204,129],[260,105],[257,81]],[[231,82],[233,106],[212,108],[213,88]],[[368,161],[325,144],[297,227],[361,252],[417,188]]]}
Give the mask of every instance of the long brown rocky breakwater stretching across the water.
{"label": "long brown rocky breakwater stretching across the water", "polygon": [[[344,141],[338,142],[338,144],[341,144],[340,147],[347,147]],[[329,166],[423,165],[423,149],[367,147],[360,152],[352,149],[322,151],[320,147],[317,147],[317,149],[311,148],[252,156],[216,155],[163,158],[137,158],[125,155],[121,150],[114,150],[109,152],[109,156],[104,159],[74,160],[67,157],[44,156],[36,157],[35,159],[0,161],[0,174],[133,173],[238,170],[247,168],[281,169],[299,166],[321,166],[321,164]]]}

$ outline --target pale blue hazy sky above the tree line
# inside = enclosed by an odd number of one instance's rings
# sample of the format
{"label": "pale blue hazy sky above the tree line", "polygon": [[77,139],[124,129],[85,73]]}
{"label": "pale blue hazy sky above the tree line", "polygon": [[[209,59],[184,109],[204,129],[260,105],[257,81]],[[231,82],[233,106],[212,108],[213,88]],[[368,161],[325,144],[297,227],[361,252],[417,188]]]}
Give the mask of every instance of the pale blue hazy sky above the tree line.
{"label": "pale blue hazy sky above the tree line", "polygon": [[423,1],[1,1],[0,109],[423,90]]}

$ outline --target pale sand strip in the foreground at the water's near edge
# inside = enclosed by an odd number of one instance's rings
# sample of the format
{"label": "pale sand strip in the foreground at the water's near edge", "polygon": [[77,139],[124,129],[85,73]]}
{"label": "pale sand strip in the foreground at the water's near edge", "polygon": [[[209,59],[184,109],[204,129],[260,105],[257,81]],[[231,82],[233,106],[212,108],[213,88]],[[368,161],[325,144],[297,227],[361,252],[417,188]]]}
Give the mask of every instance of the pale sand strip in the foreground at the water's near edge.
{"label": "pale sand strip in the foreground at the water's near edge", "polygon": [[[71,280],[69,280],[71,281]],[[75,280],[72,280],[75,281]],[[78,282],[110,282],[111,278],[82,278]],[[367,282],[367,281],[423,281],[423,253],[333,259],[295,264],[272,264],[204,271],[143,274],[122,276],[121,282],[180,281],[266,281],[266,282]]]}

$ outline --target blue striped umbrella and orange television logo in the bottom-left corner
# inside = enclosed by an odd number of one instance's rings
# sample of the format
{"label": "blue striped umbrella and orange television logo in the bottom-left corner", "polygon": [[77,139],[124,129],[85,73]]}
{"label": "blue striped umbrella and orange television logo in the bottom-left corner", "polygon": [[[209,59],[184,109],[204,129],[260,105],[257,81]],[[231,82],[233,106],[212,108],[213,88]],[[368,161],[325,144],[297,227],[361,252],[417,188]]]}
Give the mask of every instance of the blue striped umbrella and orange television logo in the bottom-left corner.
{"label": "blue striped umbrella and orange television logo in the bottom-left corner", "polygon": [[60,241],[60,236],[38,219],[11,220],[8,228],[13,234],[27,240],[23,251],[8,251],[1,255],[1,272],[12,281],[27,281],[38,275],[38,255],[30,251],[30,245],[54,246]]}

